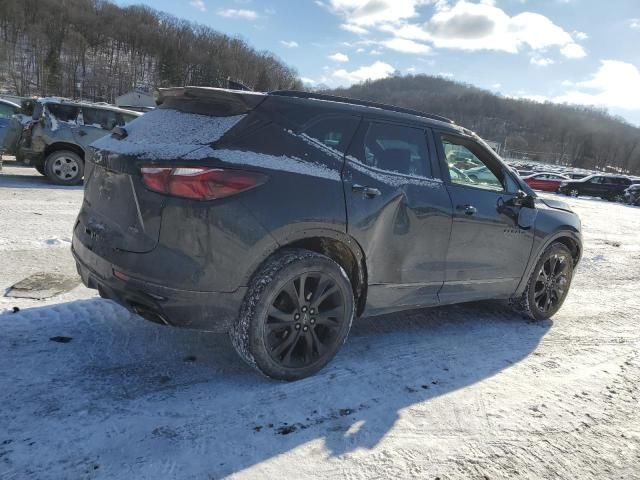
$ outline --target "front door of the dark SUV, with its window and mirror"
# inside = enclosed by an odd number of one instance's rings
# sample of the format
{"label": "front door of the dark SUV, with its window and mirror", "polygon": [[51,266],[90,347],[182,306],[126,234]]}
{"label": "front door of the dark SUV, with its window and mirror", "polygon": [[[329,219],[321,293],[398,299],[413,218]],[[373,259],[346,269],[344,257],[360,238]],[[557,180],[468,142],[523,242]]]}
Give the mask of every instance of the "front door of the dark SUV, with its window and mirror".
{"label": "front door of the dark SUV, with its window and mirror", "polygon": [[[531,254],[535,209],[520,205],[519,186],[511,173],[473,137],[440,133],[436,143],[453,204],[440,301],[510,296]],[[482,176],[472,177],[464,170],[447,176],[449,159],[460,155],[470,156],[487,171]]]}

